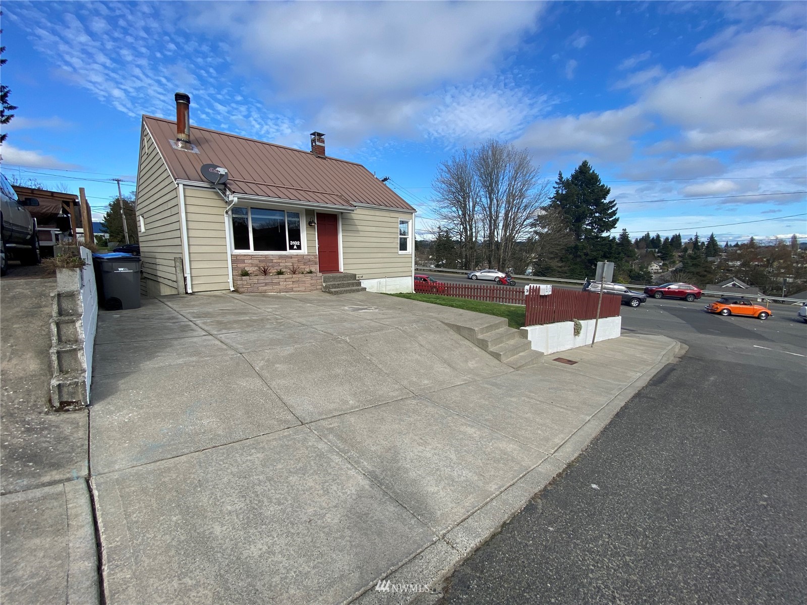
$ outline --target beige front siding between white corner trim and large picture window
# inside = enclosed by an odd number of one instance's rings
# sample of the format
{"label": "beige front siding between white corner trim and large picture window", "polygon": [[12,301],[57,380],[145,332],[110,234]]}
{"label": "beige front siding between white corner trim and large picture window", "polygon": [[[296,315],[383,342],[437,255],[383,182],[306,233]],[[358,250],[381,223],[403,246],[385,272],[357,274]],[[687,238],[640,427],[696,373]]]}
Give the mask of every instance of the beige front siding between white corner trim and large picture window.
{"label": "beige front siding between white corner trim and large picture window", "polygon": [[224,199],[215,191],[185,187],[190,282],[194,292],[229,290]]}

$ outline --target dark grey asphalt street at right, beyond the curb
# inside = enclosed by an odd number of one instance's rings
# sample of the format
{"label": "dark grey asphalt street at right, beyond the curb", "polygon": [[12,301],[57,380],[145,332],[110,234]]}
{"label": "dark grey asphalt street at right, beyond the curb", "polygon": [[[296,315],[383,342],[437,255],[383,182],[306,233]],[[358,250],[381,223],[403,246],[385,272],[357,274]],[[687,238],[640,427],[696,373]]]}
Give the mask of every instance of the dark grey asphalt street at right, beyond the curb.
{"label": "dark grey asphalt street at right, beyond the curb", "polygon": [[441,603],[805,603],[807,324],[623,307],[689,346],[449,578]]}

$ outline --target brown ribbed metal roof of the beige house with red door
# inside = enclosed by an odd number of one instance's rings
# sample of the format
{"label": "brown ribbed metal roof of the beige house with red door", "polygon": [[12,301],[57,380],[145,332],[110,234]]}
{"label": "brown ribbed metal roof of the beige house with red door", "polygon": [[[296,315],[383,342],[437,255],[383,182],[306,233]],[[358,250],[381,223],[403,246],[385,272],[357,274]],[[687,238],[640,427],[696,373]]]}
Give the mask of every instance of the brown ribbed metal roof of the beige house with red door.
{"label": "brown ribbed metal roof of the beige house with red door", "polygon": [[190,142],[199,153],[180,151],[171,146],[177,138],[176,122],[144,115],[143,123],[170,173],[179,180],[206,182],[199,169],[204,164],[218,164],[228,170],[227,188],[236,195],[345,208],[369,204],[415,210],[361,164],[194,126],[190,127]]}

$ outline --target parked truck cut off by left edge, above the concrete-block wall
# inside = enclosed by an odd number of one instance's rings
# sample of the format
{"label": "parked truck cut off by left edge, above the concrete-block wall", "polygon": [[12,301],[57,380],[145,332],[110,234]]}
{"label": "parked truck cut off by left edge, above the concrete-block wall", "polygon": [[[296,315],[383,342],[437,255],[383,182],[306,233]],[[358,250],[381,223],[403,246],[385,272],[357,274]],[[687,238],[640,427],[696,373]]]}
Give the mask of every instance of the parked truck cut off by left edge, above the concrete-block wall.
{"label": "parked truck cut off by left edge, above the concrete-block wall", "polygon": [[36,219],[27,211],[27,207],[39,206],[39,200],[20,200],[11,183],[0,173],[0,202],[0,274],[6,274],[11,258],[23,265],[39,265],[40,237]]}

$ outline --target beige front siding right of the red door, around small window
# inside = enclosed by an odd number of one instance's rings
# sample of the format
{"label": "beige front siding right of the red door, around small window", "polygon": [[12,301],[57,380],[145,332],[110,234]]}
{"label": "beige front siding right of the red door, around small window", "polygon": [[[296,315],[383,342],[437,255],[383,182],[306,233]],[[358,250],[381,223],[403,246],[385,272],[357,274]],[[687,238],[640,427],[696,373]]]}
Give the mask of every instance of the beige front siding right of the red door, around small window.
{"label": "beige front siding right of the red door, around small window", "polygon": [[[398,252],[398,220],[407,212],[357,208],[341,215],[343,270],[363,279],[412,276],[412,252]],[[414,221],[410,229],[414,227]],[[410,234],[414,248],[414,234]]]}

